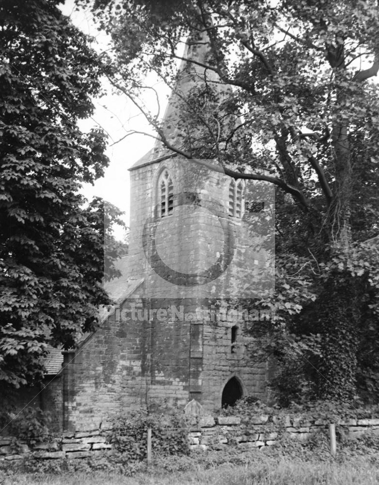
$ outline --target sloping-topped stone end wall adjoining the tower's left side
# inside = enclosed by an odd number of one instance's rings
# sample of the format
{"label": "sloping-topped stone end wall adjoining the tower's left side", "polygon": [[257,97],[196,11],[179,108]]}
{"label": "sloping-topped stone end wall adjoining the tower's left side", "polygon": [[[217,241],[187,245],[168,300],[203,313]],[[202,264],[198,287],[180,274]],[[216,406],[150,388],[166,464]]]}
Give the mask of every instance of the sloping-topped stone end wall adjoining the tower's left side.
{"label": "sloping-topped stone end wall adjoining the tower's left side", "polygon": [[[142,307],[138,295],[130,304]],[[67,368],[65,430],[95,429],[107,416],[145,407],[145,327],[146,322],[127,323],[113,313],[81,343]]]}

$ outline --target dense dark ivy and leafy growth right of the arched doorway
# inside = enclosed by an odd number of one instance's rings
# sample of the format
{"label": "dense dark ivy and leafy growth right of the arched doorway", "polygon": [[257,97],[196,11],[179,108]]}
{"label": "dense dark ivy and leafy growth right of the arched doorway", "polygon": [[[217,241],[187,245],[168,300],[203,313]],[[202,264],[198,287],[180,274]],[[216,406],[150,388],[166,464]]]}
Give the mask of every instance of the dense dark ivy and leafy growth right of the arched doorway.
{"label": "dense dark ivy and leafy growth right of the arched doorway", "polygon": [[[313,266],[317,286],[309,269],[300,271],[298,285],[281,273],[273,305],[278,318],[253,348],[256,356],[275,357],[271,386],[281,405],[356,395],[370,403],[378,396],[378,247],[374,240],[336,248],[327,263]],[[298,314],[291,315],[287,299],[296,302],[296,287],[309,291],[307,285],[317,296],[308,303],[298,300]]]}

